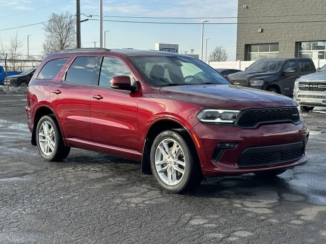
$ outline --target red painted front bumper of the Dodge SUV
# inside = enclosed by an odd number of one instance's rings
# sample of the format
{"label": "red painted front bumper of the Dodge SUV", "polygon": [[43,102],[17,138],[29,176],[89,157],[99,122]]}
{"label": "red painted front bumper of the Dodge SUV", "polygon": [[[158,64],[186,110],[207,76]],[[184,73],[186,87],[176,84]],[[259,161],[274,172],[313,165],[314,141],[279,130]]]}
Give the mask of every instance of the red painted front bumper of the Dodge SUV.
{"label": "red painted front bumper of the Dodge SUV", "polygon": [[[263,170],[286,169],[304,164],[308,161],[305,151],[309,130],[304,122],[299,125],[292,123],[261,125],[256,129],[241,129],[236,126],[197,124],[194,135],[199,142],[199,157],[205,176],[236,176]],[[237,143],[234,149],[226,149],[218,160],[213,160],[216,145],[221,142]],[[301,143],[302,154],[295,160],[280,163],[261,163],[251,166],[239,166],[239,157],[248,148],[268,147],[284,144]],[[242,154],[243,155],[243,154]],[[275,155],[273,155],[274,157]]]}

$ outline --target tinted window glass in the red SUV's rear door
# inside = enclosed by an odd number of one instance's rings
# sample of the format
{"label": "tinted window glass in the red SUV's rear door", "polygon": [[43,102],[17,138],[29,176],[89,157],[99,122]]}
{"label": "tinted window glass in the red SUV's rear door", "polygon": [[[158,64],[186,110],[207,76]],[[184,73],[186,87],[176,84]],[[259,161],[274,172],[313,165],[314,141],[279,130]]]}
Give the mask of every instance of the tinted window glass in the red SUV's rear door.
{"label": "tinted window glass in the red SUV's rear door", "polygon": [[92,85],[98,57],[76,57],[67,70],[65,81]]}

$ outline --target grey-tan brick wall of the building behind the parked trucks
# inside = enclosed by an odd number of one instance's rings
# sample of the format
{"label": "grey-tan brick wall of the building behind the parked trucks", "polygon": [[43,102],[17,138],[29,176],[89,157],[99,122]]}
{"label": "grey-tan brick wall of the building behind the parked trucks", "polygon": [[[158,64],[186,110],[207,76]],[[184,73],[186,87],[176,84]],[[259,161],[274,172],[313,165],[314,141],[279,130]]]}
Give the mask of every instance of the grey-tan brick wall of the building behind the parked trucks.
{"label": "grey-tan brick wall of the building behind the parked trucks", "polygon": [[[243,5],[247,5],[248,9],[243,9]],[[320,13],[324,15],[303,16]],[[238,0],[238,17],[237,60],[244,60],[246,44],[279,43],[279,57],[294,57],[295,42],[326,40],[326,22],[288,23],[326,20],[325,0]],[[262,28],[263,32],[258,33],[258,28]]]}

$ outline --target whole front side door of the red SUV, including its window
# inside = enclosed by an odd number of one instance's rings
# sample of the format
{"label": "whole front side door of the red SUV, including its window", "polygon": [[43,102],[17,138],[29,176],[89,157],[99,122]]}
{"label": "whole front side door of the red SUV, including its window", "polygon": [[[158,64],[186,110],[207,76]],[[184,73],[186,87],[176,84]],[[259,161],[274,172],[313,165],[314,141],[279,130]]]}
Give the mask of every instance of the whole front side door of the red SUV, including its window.
{"label": "whole front side door of the red SUV, including its window", "polygon": [[135,81],[120,59],[103,57],[91,94],[92,139],[94,143],[137,149],[137,98],[128,90],[111,88],[112,77],[118,75]]}

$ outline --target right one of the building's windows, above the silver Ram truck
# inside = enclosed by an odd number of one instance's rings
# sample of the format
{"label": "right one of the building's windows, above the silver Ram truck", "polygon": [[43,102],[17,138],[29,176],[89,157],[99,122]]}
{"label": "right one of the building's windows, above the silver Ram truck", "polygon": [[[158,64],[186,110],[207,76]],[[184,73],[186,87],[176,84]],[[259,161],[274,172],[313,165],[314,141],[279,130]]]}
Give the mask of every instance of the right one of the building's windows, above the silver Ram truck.
{"label": "right one of the building's windows, above the silver Ram truck", "polygon": [[299,42],[298,57],[325,59],[326,41]]}

